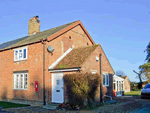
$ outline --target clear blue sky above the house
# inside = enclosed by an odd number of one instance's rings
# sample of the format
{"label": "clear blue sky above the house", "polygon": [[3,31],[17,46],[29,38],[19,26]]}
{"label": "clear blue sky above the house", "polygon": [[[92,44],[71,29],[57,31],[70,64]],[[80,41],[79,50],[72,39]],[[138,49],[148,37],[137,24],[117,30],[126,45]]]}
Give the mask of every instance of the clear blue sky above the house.
{"label": "clear blue sky above the house", "polygon": [[81,20],[100,43],[113,70],[139,82],[133,70],[145,62],[150,41],[150,0],[0,0],[0,43],[28,35],[38,15],[40,31]]}

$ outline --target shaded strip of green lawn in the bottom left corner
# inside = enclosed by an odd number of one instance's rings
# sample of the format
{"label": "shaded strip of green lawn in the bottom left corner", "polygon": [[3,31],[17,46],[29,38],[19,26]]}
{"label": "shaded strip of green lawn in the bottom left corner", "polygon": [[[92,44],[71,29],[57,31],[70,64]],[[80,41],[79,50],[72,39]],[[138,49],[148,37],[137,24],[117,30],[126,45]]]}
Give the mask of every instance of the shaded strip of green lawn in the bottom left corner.
{"label": "shaded strip of green lawn in the bottom left corner", "polygon": [[26,106],[30,106],[30,105],[0,101],[0,107],[3,107],[3,108],[26,107]]}

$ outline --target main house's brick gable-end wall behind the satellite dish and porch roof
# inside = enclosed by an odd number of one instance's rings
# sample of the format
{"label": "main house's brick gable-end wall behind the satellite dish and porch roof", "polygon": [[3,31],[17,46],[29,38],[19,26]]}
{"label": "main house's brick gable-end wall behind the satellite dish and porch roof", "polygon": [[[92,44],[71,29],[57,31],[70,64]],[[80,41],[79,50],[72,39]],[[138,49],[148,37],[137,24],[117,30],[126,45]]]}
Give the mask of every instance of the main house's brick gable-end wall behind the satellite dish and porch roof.
{"label": "main house's brick gable-end wall behind the satellite dish and porch roof", "polygon": [[[71,39],[69,39],[69,36],[71,36]],[[52,46],[54,48],[53,54],[48,53],[46,50],[46,65],[45,68],[48,69],[48,67],[55,62],[66,50],[69,49],[69,47],[81,47],[86,46],[87,42],[89,45],[92,45],[88,37],[85,35],[84,31],[80,26],[77,26],[70,31],[60,35],[58,38],[54,39],[51,42],[46,43],[46,47]],[[47,95],[50,95],[48,98],[51,100],[51,73],[46,71],[46,87],[48,89]],[[50,81],[48,81],[50,79]]]}

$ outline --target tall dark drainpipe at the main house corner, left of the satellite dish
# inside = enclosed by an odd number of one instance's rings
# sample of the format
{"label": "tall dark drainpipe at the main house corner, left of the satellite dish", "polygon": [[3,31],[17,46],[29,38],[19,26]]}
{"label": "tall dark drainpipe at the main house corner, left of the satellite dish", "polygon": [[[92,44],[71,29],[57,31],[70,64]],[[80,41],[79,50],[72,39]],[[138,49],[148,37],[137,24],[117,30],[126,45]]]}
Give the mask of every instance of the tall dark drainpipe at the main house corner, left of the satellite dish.
{"label": "tall dark drainpipe at the main house corner, left of the satellite dish", "polygon": [[42,40],[43,44],[43,105],[46,105],[45,97],[45,42]]}

